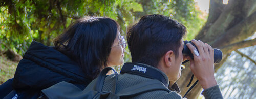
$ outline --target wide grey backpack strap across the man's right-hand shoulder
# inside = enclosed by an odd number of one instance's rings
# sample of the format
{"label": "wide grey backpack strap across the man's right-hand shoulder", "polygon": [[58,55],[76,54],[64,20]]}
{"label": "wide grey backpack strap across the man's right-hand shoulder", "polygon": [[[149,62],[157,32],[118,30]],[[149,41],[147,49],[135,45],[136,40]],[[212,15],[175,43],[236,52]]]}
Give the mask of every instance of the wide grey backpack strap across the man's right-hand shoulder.
{"label": "wide grey backpack strap across the man's right-hand shoulder", "polygon": [[117,93],[118,96],[133,96],[141,93],[154,91],[154,90],[164,90],[170,92],[159,80],[151,80],[148,82],[142,82],[132,87],[121,90]]}

